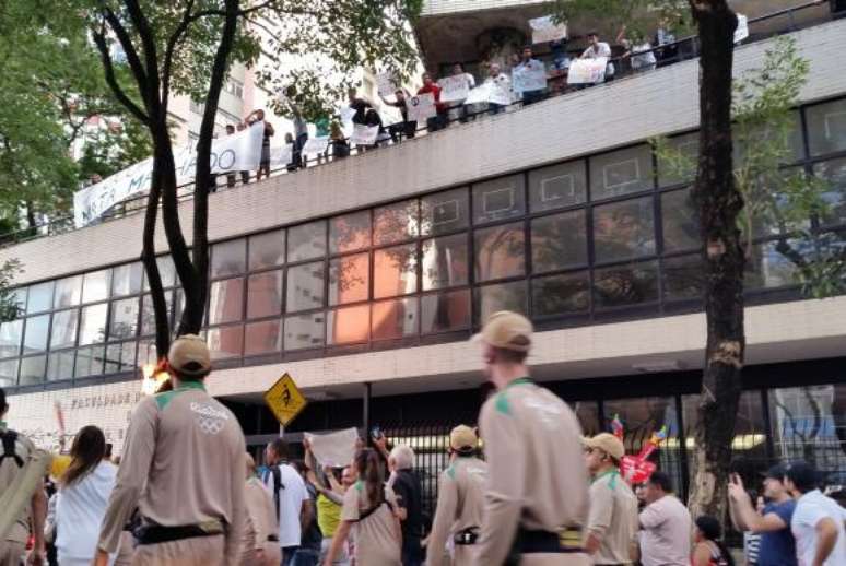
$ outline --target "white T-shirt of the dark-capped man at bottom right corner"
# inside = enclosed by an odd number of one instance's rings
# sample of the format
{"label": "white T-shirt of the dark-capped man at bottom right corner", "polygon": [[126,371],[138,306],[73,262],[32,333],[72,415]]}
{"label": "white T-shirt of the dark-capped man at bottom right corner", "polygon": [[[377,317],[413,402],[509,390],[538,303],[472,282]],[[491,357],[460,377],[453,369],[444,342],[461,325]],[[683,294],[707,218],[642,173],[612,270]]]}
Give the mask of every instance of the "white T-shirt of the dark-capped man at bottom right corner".
{"label": "white T-shirt of the dark-capped man at bottom right corner", "polygon": [[790,530],[796,539],[796,555],[799,566],[810,566],[816,555],[816,523],[829,517],[837,526],[837,542],[823,563],[824,566],[843,566],[846,564],[846,510],[837,502],[814,490],[802,495],[796,503]]}

